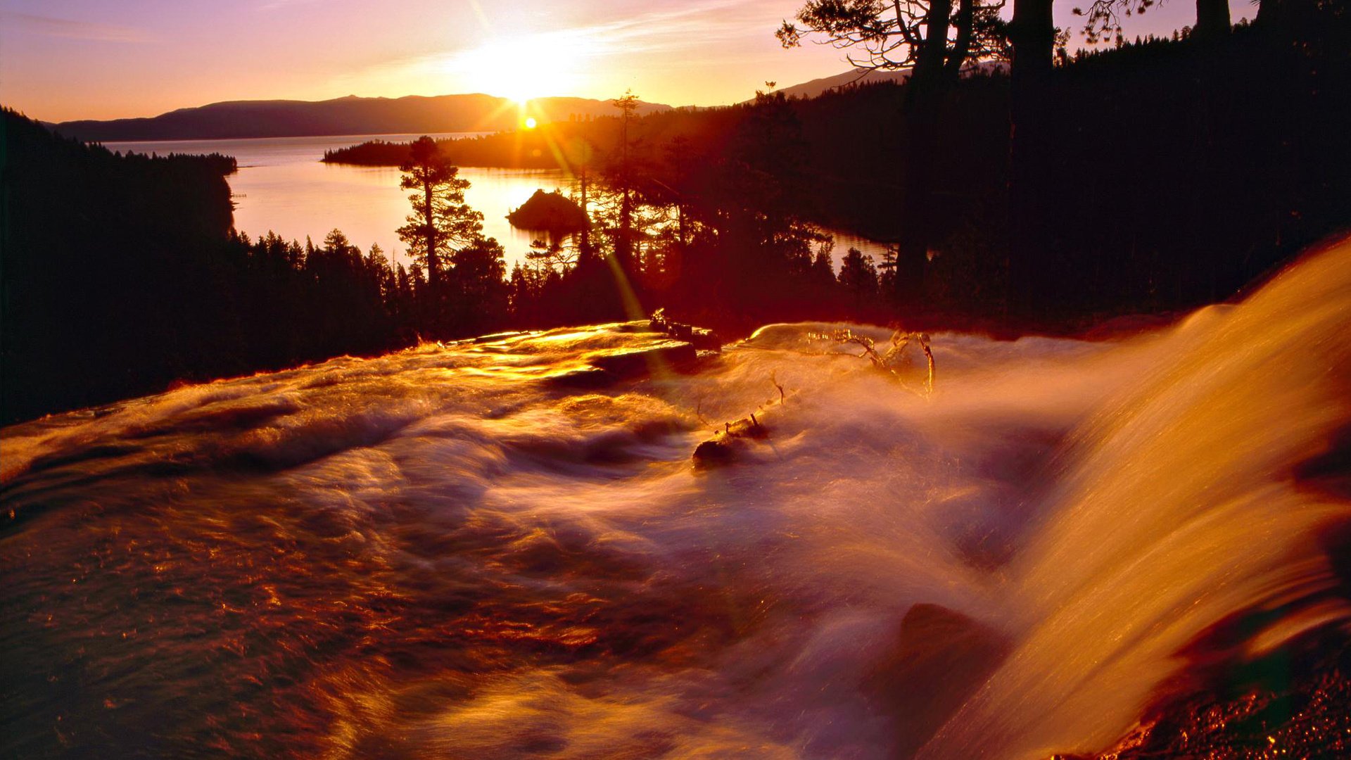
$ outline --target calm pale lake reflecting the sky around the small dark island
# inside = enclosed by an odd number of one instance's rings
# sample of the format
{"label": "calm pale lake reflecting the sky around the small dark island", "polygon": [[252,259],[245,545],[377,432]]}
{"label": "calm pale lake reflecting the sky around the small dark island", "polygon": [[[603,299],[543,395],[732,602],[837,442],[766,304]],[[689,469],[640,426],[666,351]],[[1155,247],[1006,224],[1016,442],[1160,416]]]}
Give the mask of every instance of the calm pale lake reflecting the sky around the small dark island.
{"label": "calm pale lake reflecting the sky around the small dark island", "polygon": [[[435,138],[473,137],[482,133],[443,133]],[[405,266],[411,262],[394,230],[409,214],[407,191],[399,188],[393,166],[349,166],[323,164],[326,150],[369,139],[407,142],[416,134],[282,137],[251,139],[195,139],[151,142],[107,142],[105,147],[134,153],[223,153],[234,156],[239,170],[228,177],[235,200],[235,229],[251,238],[269,230],[285,239],[319,245],[338,229],[362,250],[372,243]],[[490,169],[461,166],[469,180],[465,201],[484,214],[484,235],[497,238],[507,252],[507,268],[526,260],[534,235],[507,222],[507,214],[536,189],[567,192],[570,180],[562,169]],[[858,247],[881,261],[884,246],[857,235],[831,230],[836,235],[835,261]]]}

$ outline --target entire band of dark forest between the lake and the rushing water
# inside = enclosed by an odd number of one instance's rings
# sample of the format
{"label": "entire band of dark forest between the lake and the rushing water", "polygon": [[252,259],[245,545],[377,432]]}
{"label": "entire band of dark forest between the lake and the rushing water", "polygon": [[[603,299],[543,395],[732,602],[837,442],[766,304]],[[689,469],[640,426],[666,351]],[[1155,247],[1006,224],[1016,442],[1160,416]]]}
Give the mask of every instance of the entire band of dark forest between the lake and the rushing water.
{"label": "entire band of dark forest between the lake and the rushing water", "polygon": [[[613,118],[442,145],[443,162],[573,173],[590,223],[509,272],[462,200],[400,230],[409,268],[338,231],[250,241],[228,161],[116,157],[7,112],[3,415],[655,308],[727,334],[1016,331],[1225,299],[1351,224],[1348,18],[1301,18],[1062,57],[1035,96],[985,68],[923,99],[880,84],[646,116],[619,99]],[[1011,142],[1011,114],[1035,139]],[[355,151],[411,177],[407,145]],[[834,252],[836,270],[819,223],[898,245]]]}

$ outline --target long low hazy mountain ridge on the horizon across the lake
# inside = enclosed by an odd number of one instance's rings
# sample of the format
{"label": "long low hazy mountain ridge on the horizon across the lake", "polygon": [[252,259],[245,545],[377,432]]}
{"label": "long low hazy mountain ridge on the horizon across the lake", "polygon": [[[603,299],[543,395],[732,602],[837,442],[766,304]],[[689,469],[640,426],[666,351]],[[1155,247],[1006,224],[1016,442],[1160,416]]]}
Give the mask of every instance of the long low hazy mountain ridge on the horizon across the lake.
{"label": "long low hazy mountain ridge on the horizon across the lake", "polygon": [[[639,103],[639,114],[669,105]],[[540,120],[613,116],[608,100],[539,97],[530,115]],[[80,120],[47,124],[65,137],[113,142],[139,139],[216,139],[499,131],[516,127],[516,103],[492,95],[424,97],[338,97],[334,100],[234,100],[180,108],[142,119]]]}

